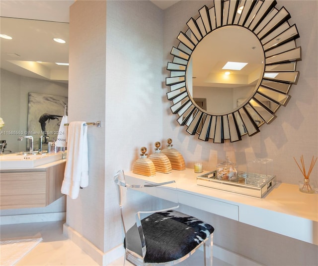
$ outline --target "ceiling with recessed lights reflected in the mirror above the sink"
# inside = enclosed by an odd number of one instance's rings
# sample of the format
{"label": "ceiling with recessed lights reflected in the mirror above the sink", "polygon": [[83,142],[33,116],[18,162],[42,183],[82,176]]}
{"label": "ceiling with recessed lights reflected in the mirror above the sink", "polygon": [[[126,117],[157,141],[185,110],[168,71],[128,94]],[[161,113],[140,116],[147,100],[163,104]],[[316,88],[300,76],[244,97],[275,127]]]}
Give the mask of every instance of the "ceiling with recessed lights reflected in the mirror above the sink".
{"label": "ceiling with recessed lights reflected in the mirror above the sink", "polygon": [[[15,74],[68,83],[69,23],[0,17],[1,68]],[[61,44],[53,38],[63,39]]]}

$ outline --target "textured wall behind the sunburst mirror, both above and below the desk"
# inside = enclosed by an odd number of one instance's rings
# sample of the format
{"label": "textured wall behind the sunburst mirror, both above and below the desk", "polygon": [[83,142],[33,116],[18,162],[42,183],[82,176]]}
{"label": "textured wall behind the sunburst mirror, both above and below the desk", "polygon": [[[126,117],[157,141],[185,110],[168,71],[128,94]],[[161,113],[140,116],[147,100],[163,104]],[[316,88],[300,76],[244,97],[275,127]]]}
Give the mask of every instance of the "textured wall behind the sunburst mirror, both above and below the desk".
{"label": "textured wall behind the sunburst mirror, both above and below the desk", "polygon": [[[272,158],[273,172],[279,181],[297,184],[302,179],[293,157],[303,154],[310,163],[312,156],[318,156],[318,72],[317,72],[317,1],[277,1],[277,8],[285,6],[292,18],[290,24],[296,23],[301,38],[297,45],[302,47],[303,60],[297,64],[301,72],[297,85],[290,91],[292,96],[286,107],[280,107],[277,118],[270,125],[263,125],[260,133],[236,143],[214,144],[212,140],[203,142],[198,135],[191,136],[186,127],[177,123],[177,115],[171,113],[172,105],[164,99],[163,138],[172,138],[174,148],[184,156],[187,167],[193,167],[197,160],[203,161],[204,170],[214,170],[217,163],[226,155],[237,162],[240,169],[254,157]],[[180,1],[164,11],[164,61],[171,61],[169,55],[172,46],[178,45],[180,31],[187,29],[190,17],[196,18],[198,10],[211,1]],[[165,71],[165,76],[169,76]],[[164,87],[168,92],[169,88]],[[246,168],[245,168],[246,169]],[[315,166],[312,180],[318,181],[318,165]],[[297,203],[295,203],[297,204]],[[314,203],[313,204],[317,204]],[[318,247],[297,241],[266,230],[258,229],[218,215],[204,213],[186,206],[181,211],[202,217],[215,227],[214,243],[255,260],[263,265],[317,265]],[[297,228],[295,228],[297,230]]]}

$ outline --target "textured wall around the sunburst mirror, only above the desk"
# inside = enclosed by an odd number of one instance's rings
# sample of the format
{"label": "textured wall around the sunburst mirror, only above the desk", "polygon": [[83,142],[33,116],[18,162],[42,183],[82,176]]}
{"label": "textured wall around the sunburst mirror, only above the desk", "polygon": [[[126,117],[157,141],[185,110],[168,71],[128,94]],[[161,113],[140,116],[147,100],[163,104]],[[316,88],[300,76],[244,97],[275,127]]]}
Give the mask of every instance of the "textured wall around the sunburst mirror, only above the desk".
{"label": "textured wall around the sunburst mirror, only above the desk", "polygon": [[[163,58],[171,61],[169,55],[172,46],[178,45],[180,31],[187,29],[190,17],[197,17],[198,10],[211,1],[180,1],[164,12]],[[312,156],[318,155],[318,94],[317,94],[317,1],[278,1],[276,7],[284,6],[291,14],[290,24],[296,23],[300,39],[296,41],[302,47],[302,61],[297,63],[300,78],[290,90],[291,100],[287,106],[277,111],[277,118],[270,125],[262,125],[260,133],[236,143],[214,144],[212,140],[203,142],[198,135],[191,136],[185,126],[179,126],[177,115],[171,113],[171,102],[164,99],[163,138],[172,138],[174,147],[185,157],[187,167],[193,167],[196,160],[203,161],[205,170],[213,170],[224,161],[226,155],[237,162],[239,169],[246,170],[246,162],[253,158],[273,159],[273,173],[279,181],[296,184],[302,179],[293,157],[303,154],[310,163]],[[169,73],[166,71],[166,76]],[[165,92],[169,87],[165,87]],[[318,165],[312,178],[318,181]]]}

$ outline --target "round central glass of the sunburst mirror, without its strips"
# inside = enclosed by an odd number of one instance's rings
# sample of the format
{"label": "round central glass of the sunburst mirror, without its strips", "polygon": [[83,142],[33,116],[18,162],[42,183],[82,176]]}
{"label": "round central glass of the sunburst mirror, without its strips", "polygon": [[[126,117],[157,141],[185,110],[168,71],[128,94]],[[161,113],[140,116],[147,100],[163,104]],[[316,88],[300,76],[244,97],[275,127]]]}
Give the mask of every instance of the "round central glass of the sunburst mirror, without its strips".
{"label": "round central glass of the sunburst mirror, without its strips", "polygon": [[[261,43],[251,31],[232,25],[216,29],[191,54],[186,74],[188,93],[193,99],[206,99],[209,114],[236,110],[258,88],[264,59]],[[246,65],[236,70],[226,66],[227,62]]]}

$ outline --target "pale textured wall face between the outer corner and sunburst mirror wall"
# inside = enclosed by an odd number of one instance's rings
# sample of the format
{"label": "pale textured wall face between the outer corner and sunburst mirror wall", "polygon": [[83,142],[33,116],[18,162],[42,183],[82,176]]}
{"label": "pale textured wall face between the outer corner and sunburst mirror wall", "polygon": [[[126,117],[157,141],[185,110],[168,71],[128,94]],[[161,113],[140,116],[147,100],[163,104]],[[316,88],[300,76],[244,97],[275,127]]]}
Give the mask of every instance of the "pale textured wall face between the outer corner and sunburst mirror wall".
{"label": "pale textured wall face between the outer corner and sunburst mirror wall", "polygon": [[122,244],[113,175],[162,136],[162,10],[150,1],[108,1],[106,38],[106,238]]}

